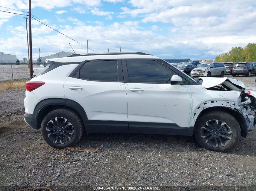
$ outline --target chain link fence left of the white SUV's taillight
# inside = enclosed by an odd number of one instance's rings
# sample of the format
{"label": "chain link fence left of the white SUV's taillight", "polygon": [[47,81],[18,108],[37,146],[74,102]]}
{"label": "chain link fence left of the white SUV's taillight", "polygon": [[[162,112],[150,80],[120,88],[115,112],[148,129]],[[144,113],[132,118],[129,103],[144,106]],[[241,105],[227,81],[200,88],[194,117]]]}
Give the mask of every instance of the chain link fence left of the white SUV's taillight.
{"label": "chain link fence left of the white SUV's taillight", "polygon": [[28,65],[0,64],[0,81],[30,78]]}

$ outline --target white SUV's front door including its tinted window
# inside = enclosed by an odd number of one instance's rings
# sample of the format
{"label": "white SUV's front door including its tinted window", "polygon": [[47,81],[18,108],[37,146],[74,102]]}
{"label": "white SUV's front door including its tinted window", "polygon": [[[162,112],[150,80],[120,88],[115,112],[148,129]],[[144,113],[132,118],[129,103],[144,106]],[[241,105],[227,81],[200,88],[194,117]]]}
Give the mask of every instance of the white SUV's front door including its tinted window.
{"label": "white SUV's front door including its tinted window", "polygon": [[192,104],[189,85],[171,85],[170,78],[175,72],[156,60],[127,59],[122,60],[122,66],[128,131],[174,135],[187,131],[187,111]]}

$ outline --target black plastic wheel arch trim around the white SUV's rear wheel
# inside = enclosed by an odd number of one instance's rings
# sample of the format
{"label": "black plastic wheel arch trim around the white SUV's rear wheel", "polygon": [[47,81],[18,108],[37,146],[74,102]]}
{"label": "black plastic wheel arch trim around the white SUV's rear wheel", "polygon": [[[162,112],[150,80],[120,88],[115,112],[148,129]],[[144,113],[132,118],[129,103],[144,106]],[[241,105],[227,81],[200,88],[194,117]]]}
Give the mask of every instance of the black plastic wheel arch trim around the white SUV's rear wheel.
{"label": "black plastic wheel arch trim around the white SUV's rear wheel", "polygon": [[49,98],[49,99],[40,101],[36,105],[34,114],[37,114],[38,129],[40,129],[42,120],[45,117],[45,115],[47,115],[47,113],[60,108],[69,109],[75,112],[82,119],[84,129],[85,129],[88,118],[84,108],[79,103],[73,100],[64,99],[64,98]]}

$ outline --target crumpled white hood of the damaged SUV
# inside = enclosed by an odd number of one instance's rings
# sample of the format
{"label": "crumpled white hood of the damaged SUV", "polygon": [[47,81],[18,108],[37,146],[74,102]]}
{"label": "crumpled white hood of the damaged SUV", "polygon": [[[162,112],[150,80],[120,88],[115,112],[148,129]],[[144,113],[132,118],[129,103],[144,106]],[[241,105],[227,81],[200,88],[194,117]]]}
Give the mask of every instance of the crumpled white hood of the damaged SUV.
{"label": "crumpled white hood of the damaged SUV", "polygon": [[204,88],[211,88],[211,87],[223,84],[225,81],[229,81],[232,84],[234,84],[236,87],[238,87],[240,89],[245,89],[243,82],[241,82],[239,80],[232,79],[232,78],[227,78],[227,77],[224,77],[224,78],[211,78],[211,77],[200,78],[200,77],[196,77],[196,79],[198,79],[198,78],[203,81],[201,85],[204,86]]}

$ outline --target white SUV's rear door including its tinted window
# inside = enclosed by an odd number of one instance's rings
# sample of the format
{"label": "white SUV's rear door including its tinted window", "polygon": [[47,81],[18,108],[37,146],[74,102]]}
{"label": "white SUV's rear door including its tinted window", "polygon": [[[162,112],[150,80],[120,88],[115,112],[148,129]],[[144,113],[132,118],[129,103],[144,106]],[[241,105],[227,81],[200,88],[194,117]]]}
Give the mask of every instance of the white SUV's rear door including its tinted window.
{"label": "white SUV's rear door including its tinted window", "polygon": [[81,62],[65,81],[64,93],[84,108],[87,132],[128,132],[121,60]]}

